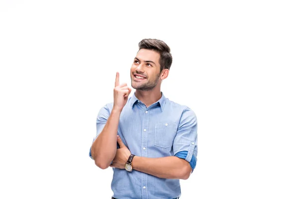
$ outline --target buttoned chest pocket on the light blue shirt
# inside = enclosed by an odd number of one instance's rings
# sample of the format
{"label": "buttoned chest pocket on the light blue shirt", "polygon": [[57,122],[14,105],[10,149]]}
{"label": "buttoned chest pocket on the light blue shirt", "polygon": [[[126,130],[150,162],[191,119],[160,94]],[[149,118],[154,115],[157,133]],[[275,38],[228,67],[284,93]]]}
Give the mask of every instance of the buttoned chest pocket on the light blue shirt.
{"label": "buttoned chest pocket on the light blue shirt", "polygon": [[171,147],[176,135],[176,129],[176,123],[156,123],[154,127],[154,145],[162,148]]}

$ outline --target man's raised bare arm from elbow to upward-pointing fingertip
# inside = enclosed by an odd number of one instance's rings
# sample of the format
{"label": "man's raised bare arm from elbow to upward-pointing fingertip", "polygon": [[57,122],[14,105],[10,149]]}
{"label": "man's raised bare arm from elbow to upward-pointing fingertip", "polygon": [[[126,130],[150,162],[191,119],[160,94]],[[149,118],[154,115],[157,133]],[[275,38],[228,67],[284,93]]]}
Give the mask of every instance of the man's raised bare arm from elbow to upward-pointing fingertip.
{"label": "man's raised bare arm from elbow to upward-pointing fingertip", "polygon": [[[117,73],[112,111],[103,130],[100,132],[91,147],[91,156],[95,160],[95,164],[101,169],[107,169],[116,155],[117,130],[120,115],[123,107],[128,101],[130,93],[131,88],[129,88],[127,84],[119,84],[119,73]],[[105,118],[103,120],[105,120]],[[102,123],[104,122],[105,121],[102,121]]]}

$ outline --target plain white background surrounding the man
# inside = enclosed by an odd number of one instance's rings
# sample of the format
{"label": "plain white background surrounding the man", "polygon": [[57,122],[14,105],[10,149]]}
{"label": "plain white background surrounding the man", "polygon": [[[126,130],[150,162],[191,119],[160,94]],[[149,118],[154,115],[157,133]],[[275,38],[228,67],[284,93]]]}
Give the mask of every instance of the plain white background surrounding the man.
{"label": "plain white background surrounding the man", "polygon": [[88,157],[96,116],[157,38],[173,56],[162,91],[199,123],[181,199],[298,199],[295,2],[1,0],[0,198],[112,196]]}

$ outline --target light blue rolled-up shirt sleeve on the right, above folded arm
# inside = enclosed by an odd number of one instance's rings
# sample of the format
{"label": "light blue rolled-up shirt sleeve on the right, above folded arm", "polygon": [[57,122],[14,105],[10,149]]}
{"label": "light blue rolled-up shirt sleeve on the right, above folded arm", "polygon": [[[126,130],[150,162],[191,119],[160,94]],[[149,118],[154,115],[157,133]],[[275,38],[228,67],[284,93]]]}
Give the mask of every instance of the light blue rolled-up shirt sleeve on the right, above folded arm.
{"label": "light blue rolled-up shirt sleeve on the right, above folded arm", "polygon": [[189,107],[182,112],[176,136],[173,141],[173,154],[187,152],[185,160],[190,163],[192,157],[197,161],[197,118]]}

